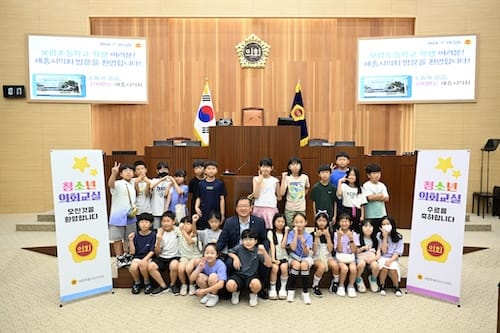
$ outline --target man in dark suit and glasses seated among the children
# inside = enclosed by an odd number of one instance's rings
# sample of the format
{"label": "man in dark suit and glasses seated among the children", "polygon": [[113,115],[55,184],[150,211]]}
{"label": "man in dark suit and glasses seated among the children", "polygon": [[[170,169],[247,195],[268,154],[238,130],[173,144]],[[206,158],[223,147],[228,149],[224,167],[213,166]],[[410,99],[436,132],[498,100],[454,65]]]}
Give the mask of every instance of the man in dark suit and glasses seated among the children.
{"label": "man in dark suit and glasses seated among the children", "polygon": [[[258,244],[264,245],[266,250],[269,252],[269,240],[267,239],[266,224],[264,220],[260,217],[251,215],[252,213],[252,202],[247,197],[239,198],[236,202],[236,215],[224,221],[224,227],[222,228],[222,233],[217,241],[217,249],[222,251],[226,248],[231,249],[238,245],[241,241],[241,233],[243,230],[250,229],[257,232],[259,235]],[[234,270],[233,261],[231,258],[225,258],[228,276]],[[259,267],[259,275],[262,281],[262,288],[259,296],[261,298],[267,298],[267,288],[269,287],[269,275],[270,269],[261,265]]]}

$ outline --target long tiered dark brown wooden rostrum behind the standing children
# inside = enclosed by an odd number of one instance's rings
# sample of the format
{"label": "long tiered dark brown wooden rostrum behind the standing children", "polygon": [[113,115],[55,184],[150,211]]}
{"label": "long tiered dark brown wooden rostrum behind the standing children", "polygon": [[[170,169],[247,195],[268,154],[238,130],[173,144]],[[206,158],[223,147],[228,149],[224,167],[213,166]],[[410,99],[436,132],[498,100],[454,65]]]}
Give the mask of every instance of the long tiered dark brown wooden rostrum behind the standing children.
{"label": "long tiered dark brown wooden rostrum behind the standing children", "polygon": [[[126,162],[144,159],[148,166],[148,176],[156,175],[156,164],[166,161],[173,174],[175,169],[187,171],[187,181],[193,175],[192,163],[196,159],[215,160],[219,164],[217,176],[226,185],[226,217],[234,214],[234,204],[238,197],[252,192],[252,176],[257,175],[259,161],[270,156],[273,159],[273,175],[281,180],[281,173],[286,170],[292,156],[302,160],[303,171],[309,176],[311,185],[318,181],[318,166],[335,162],[340,151],[349,154],[351,166],[361,171],[361,181],[367,180],[365,167],[378,163],[382,167],[381,181],[387,185],[390,200],[386,207],[396,219],[398,228],[409,229],[413,211],[413,191],[415,182],[416,156],[366,156],[364,147],[315,146],[300,147],[300,128],[297,126],[262,126],[262,127],[211,127],[210,147],[145,147],[145,156],[126,156]],[[120,156],[122,158],[122,156]],[[106,179],[116,158],[105,159]],[[125,162],[118,159],[120,162]],[[223,171],[236,171],[236,175],[225,176]],[[109,200],[108,200],[109,202]],[[309,226],[314,225],[312,202],[307,198],[307,216]],[[283,201],[278,204],[283,209]],[[484,206],[483,206],[484,208]],[[479,208],[478,208],[479,210]],[[479,213],[478,213],[479,214]],[[484,214],[483,214],[484,215]]]}

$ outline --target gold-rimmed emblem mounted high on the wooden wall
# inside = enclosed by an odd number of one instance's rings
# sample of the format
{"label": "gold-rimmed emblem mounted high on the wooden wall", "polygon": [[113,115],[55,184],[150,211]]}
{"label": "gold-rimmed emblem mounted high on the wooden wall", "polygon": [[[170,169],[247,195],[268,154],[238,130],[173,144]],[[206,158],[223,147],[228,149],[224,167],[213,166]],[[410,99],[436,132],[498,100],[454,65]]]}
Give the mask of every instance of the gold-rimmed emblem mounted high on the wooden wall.
{"label": "gold-rimmed emblem mounted high on the wooden wall", "polygon": [[271,47],[259,37],[251,34],[236,45],[241,67],[264,67]]}

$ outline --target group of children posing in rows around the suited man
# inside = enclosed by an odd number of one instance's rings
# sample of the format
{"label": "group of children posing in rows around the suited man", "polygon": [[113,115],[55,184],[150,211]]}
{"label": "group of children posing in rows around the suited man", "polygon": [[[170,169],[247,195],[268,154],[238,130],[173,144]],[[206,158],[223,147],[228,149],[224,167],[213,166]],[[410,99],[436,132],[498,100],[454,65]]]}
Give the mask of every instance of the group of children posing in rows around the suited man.
{"label": "group of children posing in rows around the suited man", "polygon": [[[229,295],[237,304],[240,291],[248,289],[249,304],[256,306],[257,294],[267,288],[270,299],[293,302],[299,280],[302,300],[311,304],[309,274],[314,266],[311,290],[316,297],[323,296],[319,283],[328,271],[332,275],[329,291],[338,296],[366,292],[362,276],[366,271],[373,292],[386,294],[389,275],[396,296],[402,295],[398,258],[403,239],[394,220],[387,217],[389,195],[380,182],[380,166],[368,165],[369,180],[361,185],[359,169],[349,168],[346,153],[337,155],[335,165],[321,165],[319,181],[310,193],[315,225],[308,232],[306,196],[311,186],[301,160],[289,160],[280,183],[271,174],[272,160],[263,158],[248,201],[252,214],[268,229],[268,243],[264,246],[252,228],[240,227],[239,244],[223,253],[217,241],[225,220],[225,188],[216,178],[217,163],[195,161],[193,170],[195,177],[187,186],[185,170],[171,177],[164,162],[158,163],[153,179],[146,176],[141,161],[133,167],[115,163],[112,168],[110,240],[118,267],[129,266],[133,294],[143,290],[153,296],[169,291],[197,295],[202,304],[213,307],[220,295]],[[277,208],[282,198],[286,200],[283,214]],[[268,279],[261,276],[261,266],[270,268]],[[166,270],[168,285],[162,275]]]}

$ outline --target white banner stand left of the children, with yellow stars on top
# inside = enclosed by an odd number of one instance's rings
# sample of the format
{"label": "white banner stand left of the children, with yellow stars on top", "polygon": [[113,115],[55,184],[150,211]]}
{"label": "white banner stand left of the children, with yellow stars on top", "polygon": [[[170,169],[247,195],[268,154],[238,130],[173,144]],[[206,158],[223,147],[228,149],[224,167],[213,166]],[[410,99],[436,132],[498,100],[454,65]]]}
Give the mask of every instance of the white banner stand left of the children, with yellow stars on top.
{"label": "white banner stand left of the children, with yellow stars on top", "polygon": [[52,150],[60,307],[113,289],[101,150]]}

